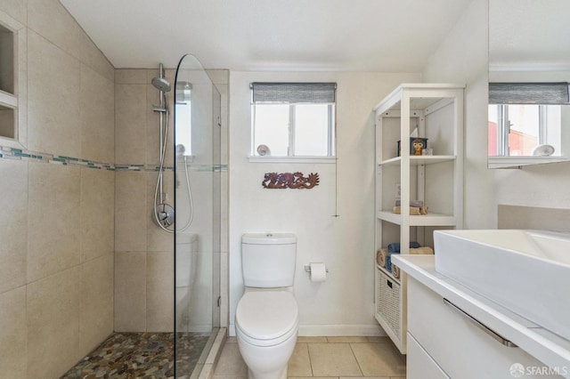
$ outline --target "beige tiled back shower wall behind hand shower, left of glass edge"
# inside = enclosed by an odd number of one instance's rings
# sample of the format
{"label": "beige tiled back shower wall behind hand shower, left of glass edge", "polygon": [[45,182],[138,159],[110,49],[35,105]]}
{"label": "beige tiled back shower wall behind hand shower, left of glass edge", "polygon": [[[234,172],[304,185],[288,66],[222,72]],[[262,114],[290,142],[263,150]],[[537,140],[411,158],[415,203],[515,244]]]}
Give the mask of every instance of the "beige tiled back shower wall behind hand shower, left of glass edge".
{"label": "beige tiled back shower wall behind hand shower, left of glass edge", "polygon": [[[158,69],[115,71],[115,160],[142,165],[119,170],[115,182],[115,330],[171,332],[174,319],[174,235],[152,221],[159,165],[159,91],[151,85]],[[175,70],[167,80],[175,82]],[[172,109],[173,92],[167,93]],[[165,165],[173,163],[173,115],[170,114]],[[145,169],[147,167],[147,169]],[[164,173],[167,203],[173,204],[173,172]]]}

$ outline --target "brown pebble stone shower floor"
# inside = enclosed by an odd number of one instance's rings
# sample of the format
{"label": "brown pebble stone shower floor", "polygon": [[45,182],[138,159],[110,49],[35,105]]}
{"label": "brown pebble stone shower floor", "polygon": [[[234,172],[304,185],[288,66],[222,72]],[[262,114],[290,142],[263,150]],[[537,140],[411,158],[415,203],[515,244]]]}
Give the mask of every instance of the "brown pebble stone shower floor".
{"label": "brown pebble stone shower floor", "polygon": [[[179,333],[177,376],[189,377],[208,335]],[[174,378],[174,333],[114,333],[61,379]]]}

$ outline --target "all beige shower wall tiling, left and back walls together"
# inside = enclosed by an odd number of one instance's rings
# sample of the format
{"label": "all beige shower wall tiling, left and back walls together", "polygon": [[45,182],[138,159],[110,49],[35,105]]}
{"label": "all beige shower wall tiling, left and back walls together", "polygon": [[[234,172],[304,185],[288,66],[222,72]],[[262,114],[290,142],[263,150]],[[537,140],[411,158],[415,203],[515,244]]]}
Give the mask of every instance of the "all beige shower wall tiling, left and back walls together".
{"label": "all beige shower wall tiling, left and back walls together", "polygon": [[[114,69],[57,0],[0,0],[0,18],[26,40],[22,149],[0,150],[0,376],[57,378],[113,330],[173,327],[174,241],[151,222],[158,69]],[[212,75],[225,135],[228,74]],[[222,181],[226,193],[227,172]],[[227,251],[215,252],[223,268]]]}

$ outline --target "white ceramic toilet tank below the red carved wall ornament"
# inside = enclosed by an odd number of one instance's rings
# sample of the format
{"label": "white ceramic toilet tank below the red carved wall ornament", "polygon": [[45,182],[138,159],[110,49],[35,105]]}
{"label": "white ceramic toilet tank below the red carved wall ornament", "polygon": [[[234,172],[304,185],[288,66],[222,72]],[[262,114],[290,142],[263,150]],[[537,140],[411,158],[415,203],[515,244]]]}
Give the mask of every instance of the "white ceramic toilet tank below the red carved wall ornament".
{"label": "white ceramic toilet tank below the red carved wall ornament", "polygon": [[290,233],[241,236],[241,270],[246,286],[293,286],[297,237]]}

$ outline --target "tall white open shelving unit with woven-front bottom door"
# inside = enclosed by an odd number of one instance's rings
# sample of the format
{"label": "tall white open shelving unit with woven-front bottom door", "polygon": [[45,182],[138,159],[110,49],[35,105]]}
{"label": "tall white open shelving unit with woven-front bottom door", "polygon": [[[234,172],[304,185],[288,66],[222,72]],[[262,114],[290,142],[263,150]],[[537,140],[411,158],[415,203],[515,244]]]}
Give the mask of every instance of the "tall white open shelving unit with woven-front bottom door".
{"label": "tall white open shelving unit with woven-front bottom door", "polygon": [[[400,85],[374,108],[376,114],[376,248],[411,241],[433,247],[433,230],[463,227],[464,85]],[[428,139],[431,156],[411,155],[409,141]],[[397,157],[397,141],[402,141]],[[399,191],[399,194],[397,193]],[[402,214],[393,207],[399,198]],[[406,206],[422,200],[428,214],[410,215]],[[375,318],[397,348],[406,353],[405,274],[395,278],[376,265]]]}

